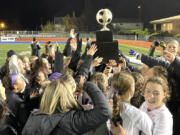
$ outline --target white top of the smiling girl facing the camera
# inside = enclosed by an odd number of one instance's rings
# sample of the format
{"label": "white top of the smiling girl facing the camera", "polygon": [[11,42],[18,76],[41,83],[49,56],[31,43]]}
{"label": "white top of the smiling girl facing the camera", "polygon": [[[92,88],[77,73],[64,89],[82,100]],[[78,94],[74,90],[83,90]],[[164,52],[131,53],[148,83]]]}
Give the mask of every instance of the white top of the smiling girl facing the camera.
{"label": "white top of the smiling girl facing the camera", "polygon": [[153,121],[153,135],[172,135],[173,118],[168,108],[163,105],[158,109],[148,111],[147,104],[144,102],[140,110],[146,112]]}

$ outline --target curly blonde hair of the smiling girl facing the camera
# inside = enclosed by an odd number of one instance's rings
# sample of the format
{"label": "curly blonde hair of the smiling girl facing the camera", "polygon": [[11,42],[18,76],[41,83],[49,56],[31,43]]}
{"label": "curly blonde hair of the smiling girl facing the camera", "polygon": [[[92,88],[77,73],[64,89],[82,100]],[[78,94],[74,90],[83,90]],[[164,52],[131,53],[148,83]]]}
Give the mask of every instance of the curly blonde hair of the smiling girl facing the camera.
{"label": "curly blonde hair of the smiling girl facing the camera", "polygon": [[153,76],[146,81],[144,90],[146,88],[146,85],[150,82],[156,83],[162,86],[164,93],[166,93],[166,97],[163,99],[163,102],[166,103],[170,99],[170,96],[171,96],[171,89],[169,87],[167,79],[164,76]]}

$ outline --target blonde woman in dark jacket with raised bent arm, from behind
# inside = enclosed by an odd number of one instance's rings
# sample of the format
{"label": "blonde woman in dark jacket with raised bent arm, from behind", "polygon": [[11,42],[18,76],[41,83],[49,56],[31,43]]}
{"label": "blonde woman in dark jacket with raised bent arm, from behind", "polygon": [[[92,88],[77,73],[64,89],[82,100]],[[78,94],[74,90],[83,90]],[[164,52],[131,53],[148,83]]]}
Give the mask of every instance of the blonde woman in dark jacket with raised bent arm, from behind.
{"label": "blonde woman in dark jacket with raised bent arm, from behind", "polygon": [[92,110],[82,110],[74,98],[76,84],[72,76],[62,75],[45,89],[40,109],[30,115],[23,135],[81,135],[111,116],[111,109],[99,88],[90,82],[83,89],[94,103]]}

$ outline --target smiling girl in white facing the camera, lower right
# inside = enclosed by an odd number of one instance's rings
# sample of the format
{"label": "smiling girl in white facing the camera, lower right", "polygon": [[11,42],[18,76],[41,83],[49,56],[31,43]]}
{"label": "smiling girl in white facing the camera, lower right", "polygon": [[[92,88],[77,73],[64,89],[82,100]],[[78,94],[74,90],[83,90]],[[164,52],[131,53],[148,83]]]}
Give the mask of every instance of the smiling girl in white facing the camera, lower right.
{"label": "smiling girl in white facing the camera, lower right", "polygon": [[166,78],[155,76],[147,80],[144,89],[145,102],[140,110],[153,121],[153,135],[172,135],[173,118],[165,103],[170,97]]}

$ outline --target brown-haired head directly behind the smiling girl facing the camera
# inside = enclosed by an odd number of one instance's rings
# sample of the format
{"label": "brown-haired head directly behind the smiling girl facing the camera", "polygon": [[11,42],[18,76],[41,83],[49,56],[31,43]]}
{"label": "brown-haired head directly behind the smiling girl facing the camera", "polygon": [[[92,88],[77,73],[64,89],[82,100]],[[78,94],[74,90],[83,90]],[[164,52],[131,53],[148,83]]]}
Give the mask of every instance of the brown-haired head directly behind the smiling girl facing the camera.
{"label": "brown-haired head directly behind the smiling girl facing the camera", "polygon": [[147,72],[143,74],[143,77],[145,81],[147,81],[149,78],[153,76],[161,76],[161,75],[164,77],[168,77],[168,72],[166,68],[162,66],[154,66],[152,68],[149,68]]}

